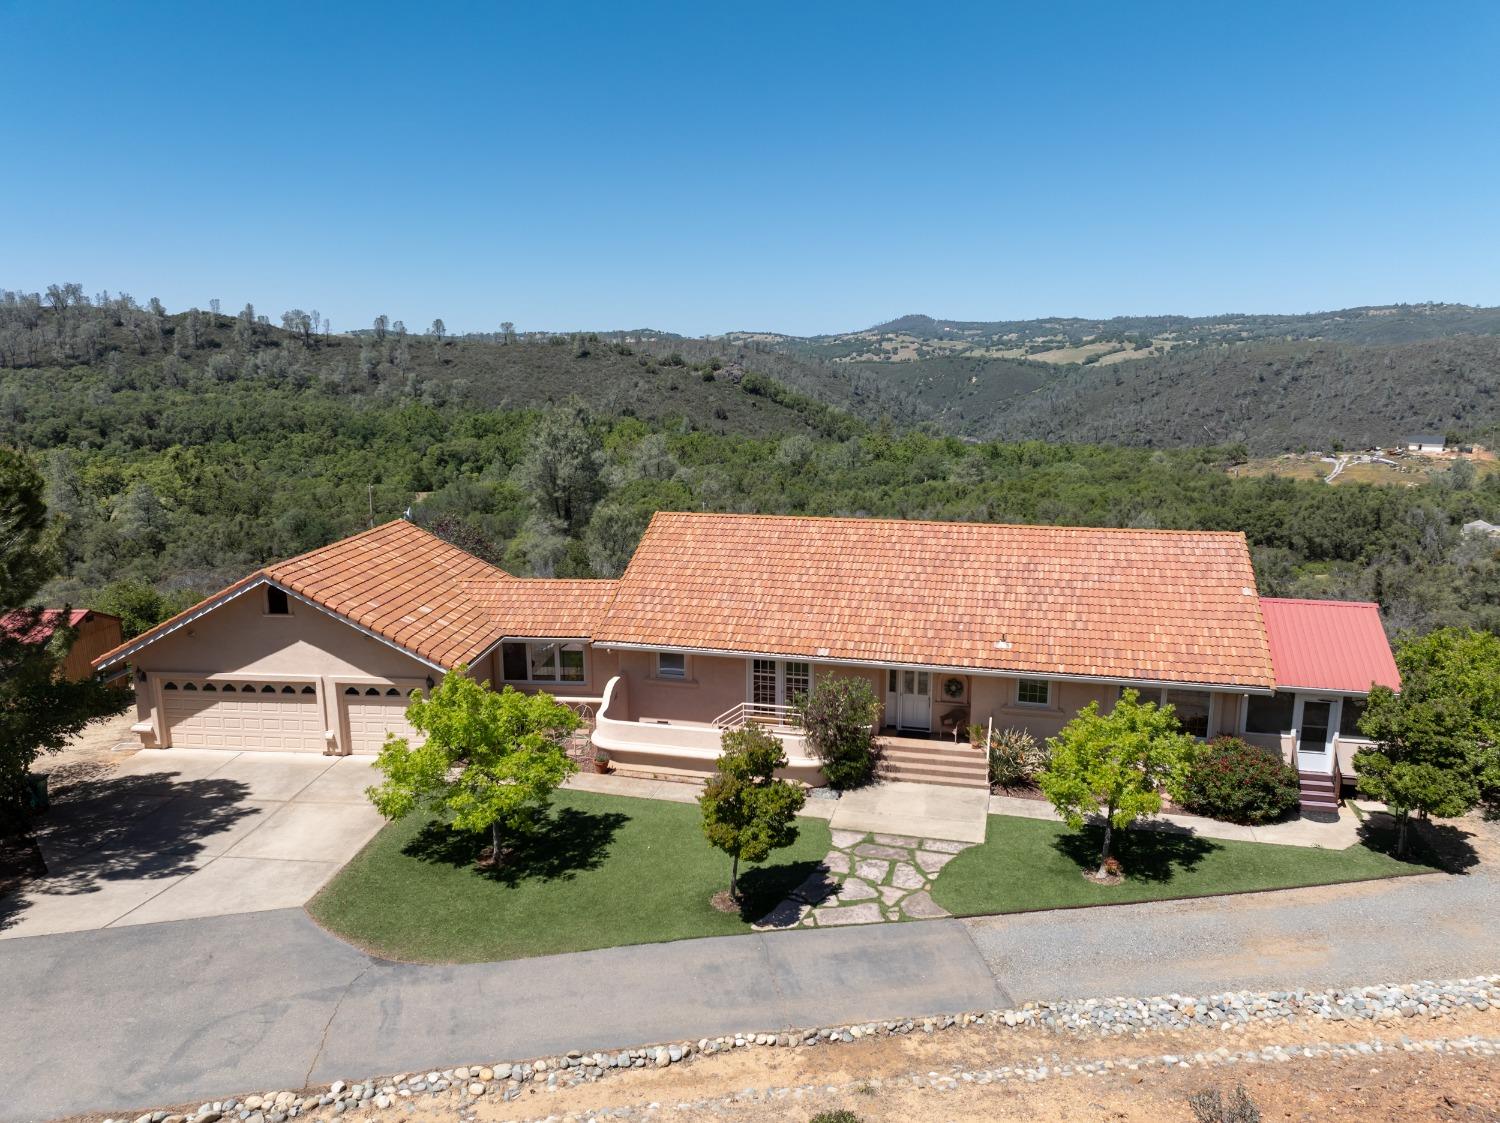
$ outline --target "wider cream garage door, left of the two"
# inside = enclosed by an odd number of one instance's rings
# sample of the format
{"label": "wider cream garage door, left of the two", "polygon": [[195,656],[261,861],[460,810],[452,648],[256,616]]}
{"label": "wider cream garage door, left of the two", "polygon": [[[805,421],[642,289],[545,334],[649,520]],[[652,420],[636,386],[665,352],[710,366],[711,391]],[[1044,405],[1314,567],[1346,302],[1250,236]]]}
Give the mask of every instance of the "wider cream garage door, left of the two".
{"label": "wider cream garage door, left of the two", "polygon": [[162,717],[177,748],[321,753],[322,711],[308,682],[162,682]]}

